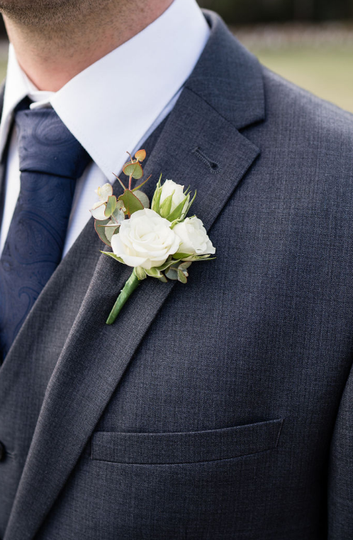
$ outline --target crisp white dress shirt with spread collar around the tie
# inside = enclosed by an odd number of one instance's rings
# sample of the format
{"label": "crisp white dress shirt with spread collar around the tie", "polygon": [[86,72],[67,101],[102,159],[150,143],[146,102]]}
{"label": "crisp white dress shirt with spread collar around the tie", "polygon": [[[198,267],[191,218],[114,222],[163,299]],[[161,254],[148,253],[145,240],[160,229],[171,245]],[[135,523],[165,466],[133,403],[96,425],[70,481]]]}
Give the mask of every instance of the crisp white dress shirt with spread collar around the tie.
{"label": "crisp white dress shirt with spread collar around the tie", "polygon": [[[128,160],[126,151],[133,153],[141,147],[175,105],[208,36],[208,25],[196,1],[174,0],[142,32],[79,73],[56,93],[34,87],[10,45],[0,155],[9,136],[13,111],[28,95],[35,102],[31,107],[52,106],[93,160],[77,182],[63,255],[91,217],[89,209],[97,200],[97,187],[107,181],[114,183],[113,173],[119,174]],[[0,253],[20,191],[15,129],[9,146],[5,185]]]}

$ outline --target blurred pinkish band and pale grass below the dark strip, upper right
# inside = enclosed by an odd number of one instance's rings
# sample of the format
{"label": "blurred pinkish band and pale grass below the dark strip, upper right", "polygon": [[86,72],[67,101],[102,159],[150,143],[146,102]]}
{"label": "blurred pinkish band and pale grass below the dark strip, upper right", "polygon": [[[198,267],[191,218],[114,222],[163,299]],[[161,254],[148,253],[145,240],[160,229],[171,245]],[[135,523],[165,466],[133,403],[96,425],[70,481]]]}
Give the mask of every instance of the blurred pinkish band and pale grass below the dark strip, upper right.
{"label": "blurred pinkish band and pale grass below the dark strip, upper right", "polygon": [[353,112],[353,29],[333,23],[234,33],[272,71]]}

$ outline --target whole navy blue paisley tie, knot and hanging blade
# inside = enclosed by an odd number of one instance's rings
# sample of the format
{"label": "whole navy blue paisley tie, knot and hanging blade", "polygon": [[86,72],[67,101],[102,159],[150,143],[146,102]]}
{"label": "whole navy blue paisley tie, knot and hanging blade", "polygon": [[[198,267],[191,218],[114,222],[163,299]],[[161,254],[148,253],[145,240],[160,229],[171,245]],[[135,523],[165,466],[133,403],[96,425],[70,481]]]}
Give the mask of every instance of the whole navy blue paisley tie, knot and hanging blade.
{"label": "whole navy blue paisley tie, knot and hanging blade", "polygon": [[0,361],[62,258],[89,155],[51,108],[15,117],[21,189],[0,259]]}

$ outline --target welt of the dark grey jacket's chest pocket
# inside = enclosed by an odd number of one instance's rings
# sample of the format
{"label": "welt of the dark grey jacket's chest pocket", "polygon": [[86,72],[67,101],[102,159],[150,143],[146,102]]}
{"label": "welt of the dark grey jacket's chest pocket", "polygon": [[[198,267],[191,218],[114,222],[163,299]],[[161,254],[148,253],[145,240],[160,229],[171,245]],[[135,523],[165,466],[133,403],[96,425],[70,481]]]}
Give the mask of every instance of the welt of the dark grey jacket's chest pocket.
{"label": "welt of the dark grey jacket's chest pocket", "polygon": [[182,433],[96,432],[91,459],[135,465],[219,461],[276,448],[283,420]]}

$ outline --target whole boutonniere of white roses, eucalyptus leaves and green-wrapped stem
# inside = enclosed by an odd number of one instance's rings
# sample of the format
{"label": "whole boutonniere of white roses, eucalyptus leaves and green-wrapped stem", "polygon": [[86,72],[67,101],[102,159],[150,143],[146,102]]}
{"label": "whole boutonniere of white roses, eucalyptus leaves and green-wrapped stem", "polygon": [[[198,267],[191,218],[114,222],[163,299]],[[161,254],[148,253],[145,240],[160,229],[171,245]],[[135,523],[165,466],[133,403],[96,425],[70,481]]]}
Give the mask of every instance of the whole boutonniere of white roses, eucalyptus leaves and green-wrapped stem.
{"label": "whole boutonniere of white roses, eucalyptus leaves and green-wrapped stem", "polygon": [[207,236],[202,221],[196,216],[186,217],[196,197],[190,189],[173,180],[158,180],[151,207],[141,187],[149,180],[132,188],[133,180],[143,177],[141,162],[146,152],[139,150],[123,167],[128,176],[128,187],[116,177],[123,193],[113,195],[111,184],[96,191],[99,201],[90,210],[95,219],[95,230],[112,252],[102,251],[119,263],[133,268],[107,319],[112,324],[122,307],[147,277],[167,282],[168,279],[186,283],[188,268],[195,261],[210,260],[216,252]]}

